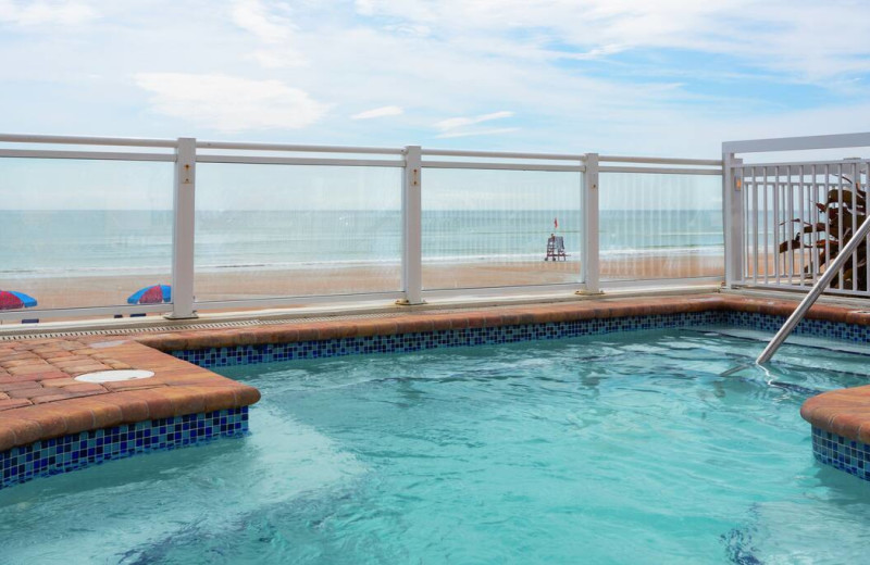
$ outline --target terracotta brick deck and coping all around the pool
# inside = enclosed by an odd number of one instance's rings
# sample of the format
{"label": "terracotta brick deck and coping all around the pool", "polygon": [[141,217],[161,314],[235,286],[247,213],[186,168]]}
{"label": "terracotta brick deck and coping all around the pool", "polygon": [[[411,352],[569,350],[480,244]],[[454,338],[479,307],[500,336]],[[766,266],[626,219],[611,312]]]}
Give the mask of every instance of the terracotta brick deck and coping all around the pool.
{"label": "terracotta brick deck and coping all around the pool", "polygon": [[[719,293],[602,298],[228,329],[5,341],[0,342],[0,452],[121,424],[238,409],[260,399],[253,387],[176,359],[170,351],[705,311],[785,316],[795,305],[791,300]],[[870,313],[855,307],[817,305],[808,317],[870,326]],[[112,368],[148,369],[156,376],[102,385],[74,380],[84,373]],[[870,443],[870,386],[813,397],[800,413],[818,428]]]}

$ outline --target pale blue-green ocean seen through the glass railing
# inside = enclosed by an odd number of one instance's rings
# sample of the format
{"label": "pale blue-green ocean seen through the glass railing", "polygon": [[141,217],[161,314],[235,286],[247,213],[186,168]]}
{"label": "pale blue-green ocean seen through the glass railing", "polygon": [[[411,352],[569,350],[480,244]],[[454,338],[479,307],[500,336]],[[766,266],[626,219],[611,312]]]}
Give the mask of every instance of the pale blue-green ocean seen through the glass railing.
{"label": "pale blue-green ocean seen through the glass railing", "polygon": [[[558,228],[554,223],[558,221]],[[550,234],[581,247],[579,211],[425,211],[424,262],[543,259]],[[601,256],[721,254],[720,210],[605,210]],[[166,273],[172,213],[0,211],[0,280]],[[240,211],[197,214],[198,271],[397,263],[399,211]]]}

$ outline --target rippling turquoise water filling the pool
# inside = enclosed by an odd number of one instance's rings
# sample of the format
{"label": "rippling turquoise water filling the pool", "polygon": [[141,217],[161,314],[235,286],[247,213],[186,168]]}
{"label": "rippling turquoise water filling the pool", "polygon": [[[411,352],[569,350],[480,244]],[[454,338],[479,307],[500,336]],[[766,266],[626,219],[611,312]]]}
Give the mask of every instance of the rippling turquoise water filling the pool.
{"label": "rippling turquoise water filling the pool", "polygon": [[[870,484],[800,403],[867,356],[650,331],[249,365],[252,434],[0,491],[0,562],[844,563]],[[824,343],[816,343],[822,344]]]}

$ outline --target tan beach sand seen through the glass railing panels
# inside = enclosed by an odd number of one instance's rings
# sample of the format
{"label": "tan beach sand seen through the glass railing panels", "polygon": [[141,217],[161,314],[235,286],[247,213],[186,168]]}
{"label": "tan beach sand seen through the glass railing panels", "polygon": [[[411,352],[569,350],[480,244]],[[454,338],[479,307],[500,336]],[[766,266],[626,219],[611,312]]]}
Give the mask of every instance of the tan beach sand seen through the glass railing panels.
{"label": "tan beach sand seen through the glass railing panels", "polygon": [[[574,282],[579,261],[431,263],[423,266],[425,289],[485,288],[498,286]],[[601,261],[601,280],[688,278],[722,276],[723,260],[710,255],[624,255]],[[0,288],[26,292],[40,309],[109,306],[126,304],[141,287],[170,284],[169,273],[59,278],[7,278]],[[606,286],[606,285],[605,285]],[[351,294],[398,291],[397,264],[333,266],[283,271],[227,269],[197,273],[198,301],[249,300],[274,297]],[[38,312],[30,310],[34,317]]]}

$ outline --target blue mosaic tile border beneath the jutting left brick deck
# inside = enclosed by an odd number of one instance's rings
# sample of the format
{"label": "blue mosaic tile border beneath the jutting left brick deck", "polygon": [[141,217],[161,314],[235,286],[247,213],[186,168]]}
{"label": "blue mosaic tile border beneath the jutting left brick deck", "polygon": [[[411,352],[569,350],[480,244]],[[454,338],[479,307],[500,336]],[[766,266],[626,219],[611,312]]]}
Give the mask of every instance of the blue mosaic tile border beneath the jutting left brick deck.
{"label": "blue mosaic tile border beneath the jutting left brick deck", "polygon": [[0,452],[0,489],[138,453],[194,445],[248,431],[248,406],[125,424]]}

